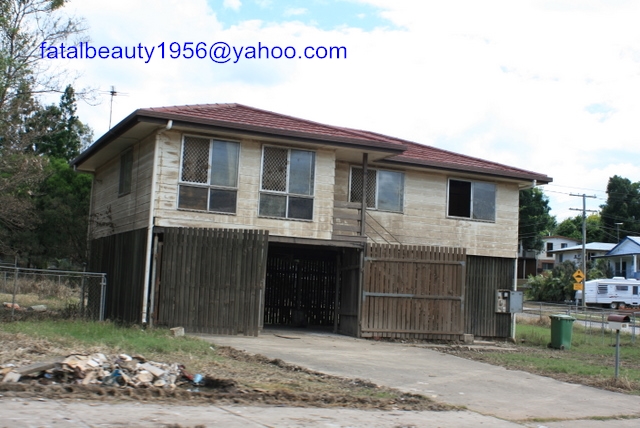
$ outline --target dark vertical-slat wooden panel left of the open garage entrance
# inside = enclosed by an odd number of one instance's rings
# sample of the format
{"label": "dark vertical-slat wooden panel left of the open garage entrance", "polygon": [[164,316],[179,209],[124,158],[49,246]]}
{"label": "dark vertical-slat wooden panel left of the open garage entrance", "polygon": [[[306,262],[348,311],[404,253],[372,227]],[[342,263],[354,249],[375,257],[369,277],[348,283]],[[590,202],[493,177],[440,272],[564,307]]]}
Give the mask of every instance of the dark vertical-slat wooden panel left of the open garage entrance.
{"label": "dark vertical-slat wooden panel left of the open garage entrance", "polygon": [[165,229],[158,323],[190,332],[257,336],[267,248],[266,231]]}

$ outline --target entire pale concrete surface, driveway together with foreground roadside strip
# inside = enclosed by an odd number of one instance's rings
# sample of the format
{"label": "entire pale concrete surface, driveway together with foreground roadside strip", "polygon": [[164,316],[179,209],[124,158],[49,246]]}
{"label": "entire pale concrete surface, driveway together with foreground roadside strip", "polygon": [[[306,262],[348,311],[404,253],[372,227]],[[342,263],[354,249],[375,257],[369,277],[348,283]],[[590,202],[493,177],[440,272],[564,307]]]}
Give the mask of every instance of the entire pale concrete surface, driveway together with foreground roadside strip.
{"label": "entire pale concrete surface, driveway together with foreground roadside strip", "polygon": [[[304,330],[260,337],[205,336],[217,344],[344,377],[425,394],[463,411],[410,412],[259,406],[51,401],[0,395],[2,427],[529,427],[640,426],[640,397],[558,382],[426,347]],[[617,419],[618,416],[625,418]]]}

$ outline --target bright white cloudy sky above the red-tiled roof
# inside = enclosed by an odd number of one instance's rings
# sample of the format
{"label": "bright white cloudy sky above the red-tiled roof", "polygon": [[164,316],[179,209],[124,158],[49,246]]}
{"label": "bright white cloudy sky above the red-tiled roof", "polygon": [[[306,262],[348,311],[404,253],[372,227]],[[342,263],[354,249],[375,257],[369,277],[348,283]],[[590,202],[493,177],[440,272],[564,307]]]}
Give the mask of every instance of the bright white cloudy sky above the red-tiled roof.
{"label": "bright white cloudy sky above the red-tiled roof", "polygon": [[[78,106],[96,138],[110,110],[115,125],[137,108],[236,102],[546,174],[558,221],[580,214],[571,194],[596,196],[586,201],[597,210],[609,177],[640,181],[637,1],[71,0],[65,9],[84,19],[89,46],[135,56],[45,58],[77,90],[101,94]],[[222,43],[231,55],[215,62],[209,50],[223,53]]]}

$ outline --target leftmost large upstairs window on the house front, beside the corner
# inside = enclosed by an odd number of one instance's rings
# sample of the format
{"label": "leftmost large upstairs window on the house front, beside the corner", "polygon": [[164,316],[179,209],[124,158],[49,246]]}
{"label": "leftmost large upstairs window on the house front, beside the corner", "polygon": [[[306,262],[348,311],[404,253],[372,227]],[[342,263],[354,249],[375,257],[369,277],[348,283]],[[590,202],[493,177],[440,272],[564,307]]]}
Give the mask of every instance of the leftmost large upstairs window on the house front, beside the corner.
{"label": "leftmost large upstairs window on the house front, beside the corner", "polygon": [[234,214],[240,144],[185,136],[178,208]]}

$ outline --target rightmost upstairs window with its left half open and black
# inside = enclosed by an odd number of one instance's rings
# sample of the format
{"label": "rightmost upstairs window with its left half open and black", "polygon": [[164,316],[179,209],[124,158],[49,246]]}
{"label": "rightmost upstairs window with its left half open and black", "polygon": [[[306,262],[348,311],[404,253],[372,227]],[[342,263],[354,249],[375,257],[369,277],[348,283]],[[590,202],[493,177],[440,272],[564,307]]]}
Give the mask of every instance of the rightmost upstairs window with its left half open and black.
{"label": "rightmost upstairs window with its left half open and black", "polygon": [[450,179],[447,214],[451,217],[495,221],[496,185]]}

